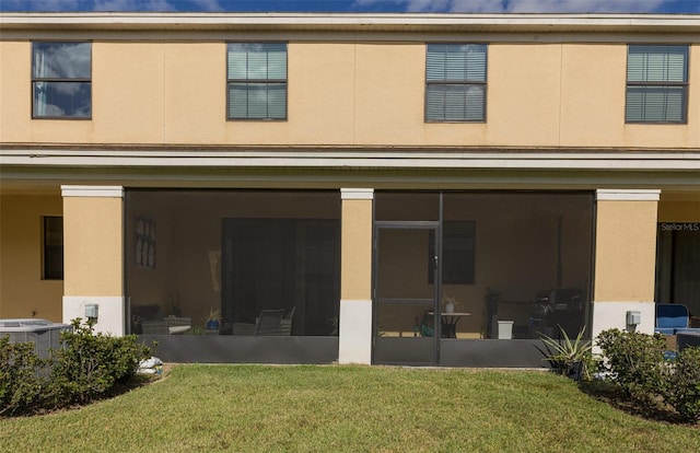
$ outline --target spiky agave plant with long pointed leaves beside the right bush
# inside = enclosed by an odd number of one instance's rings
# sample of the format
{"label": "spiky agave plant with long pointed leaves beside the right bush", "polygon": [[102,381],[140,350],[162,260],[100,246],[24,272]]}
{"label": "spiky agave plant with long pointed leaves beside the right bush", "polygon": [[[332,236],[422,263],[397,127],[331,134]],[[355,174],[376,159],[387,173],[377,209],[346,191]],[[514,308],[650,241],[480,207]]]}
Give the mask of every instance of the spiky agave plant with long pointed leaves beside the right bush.
{"label": "spiky agave plant with long pointed leaves beside the right bush", "polygon": [[593,344],[583,339],[586,332],[585,326],[581,328],[574,340],[561,326],[558,327],[559,339],[540,335],[546,349],[540,349],[540,352],[545,356],[544,360],[547,360],[553,370],[578,381],[587,375],[586,360],[591,356]]}

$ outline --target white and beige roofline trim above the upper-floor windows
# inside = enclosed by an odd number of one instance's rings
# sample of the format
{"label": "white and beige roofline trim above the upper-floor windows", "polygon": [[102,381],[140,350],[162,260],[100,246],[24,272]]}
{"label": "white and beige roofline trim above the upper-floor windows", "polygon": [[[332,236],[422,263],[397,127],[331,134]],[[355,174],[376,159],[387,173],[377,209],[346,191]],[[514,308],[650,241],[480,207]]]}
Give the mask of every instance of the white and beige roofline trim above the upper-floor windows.
{"label": "white and beige roofline trim above the upper-floor windows", "polygon": [[[0,12],[3,39],[697,43],[697,14]],[[663,36],[660,36],[663,34]]]}

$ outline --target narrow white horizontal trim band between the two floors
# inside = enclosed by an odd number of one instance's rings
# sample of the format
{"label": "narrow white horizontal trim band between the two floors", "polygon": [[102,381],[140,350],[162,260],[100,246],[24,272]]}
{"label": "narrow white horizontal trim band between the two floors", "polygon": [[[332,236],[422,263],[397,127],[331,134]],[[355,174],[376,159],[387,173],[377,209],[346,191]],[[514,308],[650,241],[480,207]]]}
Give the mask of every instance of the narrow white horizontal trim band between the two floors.
{"label": "narrow white horizontal trim band between the two floors", "polygon": [[700,184],[698,149],[483,147],[26,146],[5,143],[12,166],[432,169],[687,173]]}

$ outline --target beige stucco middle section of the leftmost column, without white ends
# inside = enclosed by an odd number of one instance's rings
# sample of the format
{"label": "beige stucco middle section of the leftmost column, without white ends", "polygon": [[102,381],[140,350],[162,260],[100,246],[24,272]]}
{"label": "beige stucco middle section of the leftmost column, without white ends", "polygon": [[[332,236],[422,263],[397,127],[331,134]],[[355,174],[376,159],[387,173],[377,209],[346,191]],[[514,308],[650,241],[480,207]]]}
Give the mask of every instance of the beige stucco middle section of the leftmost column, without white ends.
{"label": "beige stucco middle section of the leftmost column, without white ends", "polygon": [[63,198],[65,295],[120,297],[122,200]]}

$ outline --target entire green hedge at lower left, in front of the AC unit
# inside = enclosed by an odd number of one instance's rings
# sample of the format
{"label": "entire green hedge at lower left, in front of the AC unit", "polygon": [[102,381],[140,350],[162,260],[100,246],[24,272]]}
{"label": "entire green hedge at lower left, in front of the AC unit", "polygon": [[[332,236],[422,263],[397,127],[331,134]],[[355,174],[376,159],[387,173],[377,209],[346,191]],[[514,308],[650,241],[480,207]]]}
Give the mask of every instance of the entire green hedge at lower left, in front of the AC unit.
{"label": "entire green hedge at lower left, in front of the AC unit", "polygon": [[94,323],[72,322],[61,348],[40,360],[34,345],[0,338],[0,415],[85,404],[132,379],[151,349],[135,335],[95,333]]}

